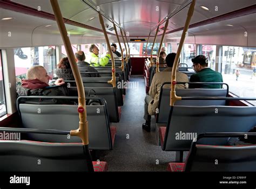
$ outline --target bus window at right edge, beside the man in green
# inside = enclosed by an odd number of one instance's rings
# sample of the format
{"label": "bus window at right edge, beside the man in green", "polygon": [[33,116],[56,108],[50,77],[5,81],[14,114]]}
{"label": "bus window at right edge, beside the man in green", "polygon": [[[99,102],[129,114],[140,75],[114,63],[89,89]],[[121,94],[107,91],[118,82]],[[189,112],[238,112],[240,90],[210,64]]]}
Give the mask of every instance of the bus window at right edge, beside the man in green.
{"label": "bus window at right edge, beside the man in green", "polygon": [[[223,46],[221,73],[230,92],[239,97],[256,97],[256,48]],[[250,101],[256,105],[255,101]]]}

